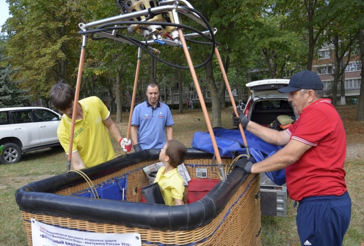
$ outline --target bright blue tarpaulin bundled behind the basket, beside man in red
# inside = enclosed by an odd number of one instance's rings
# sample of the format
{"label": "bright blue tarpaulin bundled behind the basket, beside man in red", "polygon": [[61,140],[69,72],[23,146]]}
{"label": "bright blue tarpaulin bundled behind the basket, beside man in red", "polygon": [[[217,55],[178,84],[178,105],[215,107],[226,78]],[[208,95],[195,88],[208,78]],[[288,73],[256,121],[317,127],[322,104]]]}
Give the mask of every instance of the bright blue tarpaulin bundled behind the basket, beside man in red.
{"label": "bright blue tarpaulin bundled behind the basket, beside man in red", "polygon": [[[213,131],[221,157],[247,154],[239,129],[214,128]],[[248,142],[249,153],[256,162],[264,160],[282,148],[281,146],[268,144],[248,131],[244,131],[244,133]],[[191,144],[192,148],[214,153],[214,147],[208,132],[195,132]],[[286,182],[284,168],[266,172],[265,174],[277,185],[283,185]]]}

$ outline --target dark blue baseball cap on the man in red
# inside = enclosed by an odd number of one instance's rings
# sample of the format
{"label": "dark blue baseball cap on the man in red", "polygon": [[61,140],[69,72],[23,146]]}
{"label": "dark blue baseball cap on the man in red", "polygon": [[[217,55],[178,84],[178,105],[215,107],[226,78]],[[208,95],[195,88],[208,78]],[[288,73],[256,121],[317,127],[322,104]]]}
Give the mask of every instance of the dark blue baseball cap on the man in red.
{"label": "dark blue baseball cap on the man in red", "polygon": [[288,86],[278,89],[281,93],[289,93],[299,89],[322,90],[324,84],[314,72],[303,70],[295,73],[289,80]]}

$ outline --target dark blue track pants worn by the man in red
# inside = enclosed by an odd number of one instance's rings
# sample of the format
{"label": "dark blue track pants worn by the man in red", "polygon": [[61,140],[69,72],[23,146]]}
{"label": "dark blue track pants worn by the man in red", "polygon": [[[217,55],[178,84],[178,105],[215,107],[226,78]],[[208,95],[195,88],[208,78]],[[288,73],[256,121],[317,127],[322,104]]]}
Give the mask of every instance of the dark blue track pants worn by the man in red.
{"label": "dark blue track pants worn by the man in red", "polygon": [[297,229],[302,246],[341,246],[349,227],[351,199],[341,196],[303,198],[297,210]]}

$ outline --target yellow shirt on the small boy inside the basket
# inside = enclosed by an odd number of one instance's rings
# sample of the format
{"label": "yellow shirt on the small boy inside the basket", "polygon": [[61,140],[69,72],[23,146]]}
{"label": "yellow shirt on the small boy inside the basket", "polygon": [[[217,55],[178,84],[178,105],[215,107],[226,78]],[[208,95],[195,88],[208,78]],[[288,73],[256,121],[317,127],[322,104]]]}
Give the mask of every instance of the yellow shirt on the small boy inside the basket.
{"label": "yellow shirt on the small boy inside the basket", "polygon": [[165,166],[162,166],[159,168],[154,182],[158,182],[158,185],[161,188],[165,205],[175,205],[174,198],[183,199],[183,178],[177,168],[165,173]]}

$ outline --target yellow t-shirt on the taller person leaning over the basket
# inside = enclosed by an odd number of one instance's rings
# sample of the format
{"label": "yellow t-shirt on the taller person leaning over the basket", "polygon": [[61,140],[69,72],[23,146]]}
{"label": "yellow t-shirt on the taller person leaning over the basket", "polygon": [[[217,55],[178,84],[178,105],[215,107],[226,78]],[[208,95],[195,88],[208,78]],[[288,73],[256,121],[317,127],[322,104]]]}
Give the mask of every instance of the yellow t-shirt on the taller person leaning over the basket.
{"label": "yellow t-shirt on the taller person leaning over the basket", "polygon": [[[110,112],[98,97],[79,100],[82,106],[83,119],[76,120],[73,134],[72,153],[78,151],[86,168],[104,163],[115,157],[109,133],[103,120]],[[62,116],[57,129],[59,142],[68,155],[69,135],[72,118]]]}

